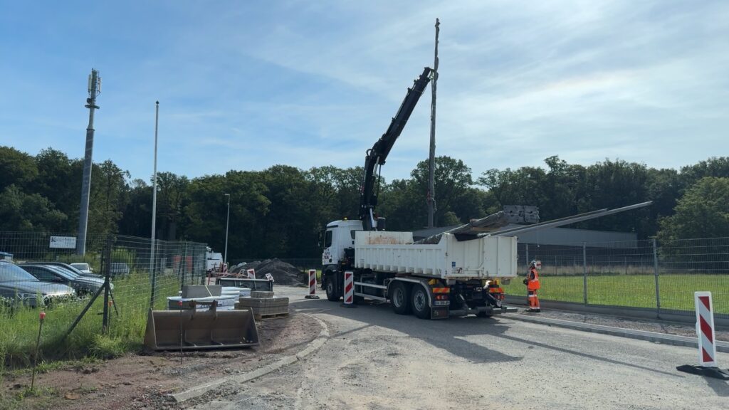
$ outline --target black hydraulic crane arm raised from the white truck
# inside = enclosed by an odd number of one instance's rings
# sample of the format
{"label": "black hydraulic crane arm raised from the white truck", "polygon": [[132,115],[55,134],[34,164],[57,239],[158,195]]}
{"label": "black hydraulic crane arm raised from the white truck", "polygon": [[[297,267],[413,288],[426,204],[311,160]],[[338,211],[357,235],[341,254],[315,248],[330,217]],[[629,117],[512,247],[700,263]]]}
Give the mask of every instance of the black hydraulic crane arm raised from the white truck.
{"label": "black hydraulic crane arm raised from the white truck", "polygon": [[359,187],[359,219],[362,220],[364,231],[375,231],[377,223],[375,222],[374,209],[377,205],[377,196],[375,193],[375,169],[382,166],[389,155],[392,146],[397,137],[402,133],[405,124],[408,123],[410,114],[418,104],[420,96],[423,94],[428,82],[430,81],[432,69],[425,67],[423,74],[415,80],[413,88],[408,88],[405,99],[402,100],[397,115],[392,118],[389,128],[382,134],[380,139],[367,150],[367,156],[364,157],[364,172],[362,173],[362,185]]}

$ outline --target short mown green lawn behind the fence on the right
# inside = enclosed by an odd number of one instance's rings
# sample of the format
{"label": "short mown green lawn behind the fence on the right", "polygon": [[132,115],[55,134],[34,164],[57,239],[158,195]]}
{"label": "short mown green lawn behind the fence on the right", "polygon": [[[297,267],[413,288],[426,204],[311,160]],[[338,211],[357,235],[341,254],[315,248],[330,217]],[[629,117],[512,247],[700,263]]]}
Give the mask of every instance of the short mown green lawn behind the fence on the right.
{"label": "short mown green lawn behind the fence on the right", "polygon": [[[504,285],[507,295],[524,295],[523,276]],[[542,300],[584,303],[582,276],[539,276],[537,293]],[[596,305],[655,308],[655,276],[588,276],[588,303]],[[693,293],[712,293],[714,311],[729,314],[729,275],[662,274],[658,276],[660,307],[693,311]]]}

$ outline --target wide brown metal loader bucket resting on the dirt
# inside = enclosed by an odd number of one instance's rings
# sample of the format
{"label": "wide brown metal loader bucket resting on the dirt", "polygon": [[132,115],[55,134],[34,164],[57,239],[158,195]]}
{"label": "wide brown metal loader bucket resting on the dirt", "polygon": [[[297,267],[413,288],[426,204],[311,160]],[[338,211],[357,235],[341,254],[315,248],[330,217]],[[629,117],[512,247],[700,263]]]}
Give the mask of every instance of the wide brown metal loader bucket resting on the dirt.
{"label": "wide brown metal loader bucket resting on the dirt", "polygon": [[258,330],[250,309],[207,311],[149,309],[144,344],[152,350],[224,349],[257,346]]}

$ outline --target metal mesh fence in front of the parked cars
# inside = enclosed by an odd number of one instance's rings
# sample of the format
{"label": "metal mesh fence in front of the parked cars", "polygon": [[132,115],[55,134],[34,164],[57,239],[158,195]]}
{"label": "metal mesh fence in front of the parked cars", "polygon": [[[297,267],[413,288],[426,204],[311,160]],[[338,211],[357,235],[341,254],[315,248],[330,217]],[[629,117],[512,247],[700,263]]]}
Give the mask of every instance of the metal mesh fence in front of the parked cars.
{"label": "metal mesh fence in front of the parked cars", "polygon": [[114,355],[141,345],[150,306],[165,309],[167,297],[205,276],[206,244],[155,241],[153,250],[150,239],[90,235],[86,254],[75,255],[69,238],[0,232],[0,259],[12,255],[0,263],[0,350],[9,365],[30,363],[41,309],[42,357]]}

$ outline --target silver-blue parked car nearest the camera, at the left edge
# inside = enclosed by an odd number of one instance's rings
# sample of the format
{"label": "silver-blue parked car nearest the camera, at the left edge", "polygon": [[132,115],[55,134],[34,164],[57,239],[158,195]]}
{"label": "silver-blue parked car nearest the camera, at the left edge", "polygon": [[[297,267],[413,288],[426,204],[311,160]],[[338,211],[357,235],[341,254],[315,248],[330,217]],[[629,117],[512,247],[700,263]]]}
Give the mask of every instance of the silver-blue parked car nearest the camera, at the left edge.
{"label": "silver-blue parked car nearest the camera, at the left edge", "polygon": [[[0,260],[0,300],[12,306],[42,306],[76,296],[72,287],[41,282],[13,263]],[[38,298],[41,300],[38,300]]]}

